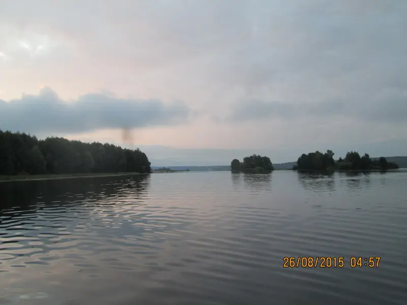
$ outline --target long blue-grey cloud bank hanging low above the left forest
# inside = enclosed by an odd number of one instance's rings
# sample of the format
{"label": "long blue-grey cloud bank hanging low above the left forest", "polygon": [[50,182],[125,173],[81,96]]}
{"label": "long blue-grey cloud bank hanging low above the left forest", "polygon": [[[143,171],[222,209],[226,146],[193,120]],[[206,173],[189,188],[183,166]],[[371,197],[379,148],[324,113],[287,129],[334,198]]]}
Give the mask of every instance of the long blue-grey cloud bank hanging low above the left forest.
{"label": "long blue-grey cloud bank hanging low above the left forest", "polygon": [[131,100],[86,94],[61,100],[50,88],[39,95],[0,100],[0,128],[30,133],[76,133],[98,129],[144,128],[185,123],[191,110],[182,102]]}

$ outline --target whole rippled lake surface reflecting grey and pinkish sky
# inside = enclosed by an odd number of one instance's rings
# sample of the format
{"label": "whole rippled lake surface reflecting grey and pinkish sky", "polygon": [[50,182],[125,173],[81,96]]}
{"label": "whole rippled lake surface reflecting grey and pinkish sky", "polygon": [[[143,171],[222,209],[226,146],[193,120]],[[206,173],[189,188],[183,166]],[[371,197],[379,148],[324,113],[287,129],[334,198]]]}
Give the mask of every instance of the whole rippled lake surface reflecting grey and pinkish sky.
{"label": "whole rippled lake surface reflecting grey and pinkish sky", "polygon": [[[283,268],[286,256],[344,267]],[[0,183],[0,304],[406,300],[405,171]]]}

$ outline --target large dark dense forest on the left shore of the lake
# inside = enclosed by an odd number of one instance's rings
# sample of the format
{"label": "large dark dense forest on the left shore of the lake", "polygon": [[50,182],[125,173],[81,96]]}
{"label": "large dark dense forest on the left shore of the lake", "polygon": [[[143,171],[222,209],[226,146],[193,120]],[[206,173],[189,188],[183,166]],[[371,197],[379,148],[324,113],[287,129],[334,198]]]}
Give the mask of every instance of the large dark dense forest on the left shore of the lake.
{"label": "large dark dense forest on the left shore of the lake", "polygon": [[151,172],[140,149],[0,130],[0,175]]}

